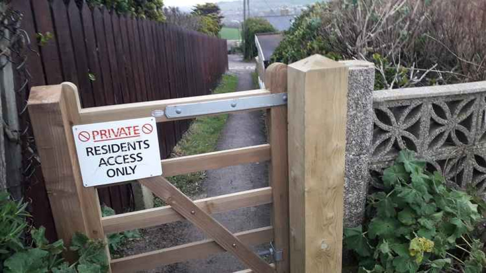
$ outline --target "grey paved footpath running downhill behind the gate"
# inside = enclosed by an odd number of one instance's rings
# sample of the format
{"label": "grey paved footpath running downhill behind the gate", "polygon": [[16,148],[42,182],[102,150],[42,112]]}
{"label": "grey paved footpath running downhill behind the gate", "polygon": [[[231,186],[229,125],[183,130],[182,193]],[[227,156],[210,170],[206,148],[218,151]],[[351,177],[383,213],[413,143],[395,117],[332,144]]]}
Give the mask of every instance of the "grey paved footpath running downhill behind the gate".
{"label": "grey paved footpath running downhill behind the gate", "polygon": [[[237,91],[251,90],[251,73],[254,63],[243,62],[239,55],[229,55],[230,73],[238,76]],[[220,136],[217,150],[240,148],[266,143],[265,122],[261,111],[230,114]],[[252,163],[207,171],[203,183],[207,197],[268,186],[266,163]],[[239,232],[270,225],[268,205],[242,208],[219,213],[215,218],[231,232]],[[196,227],[189,232],[190,240],[205,239]],[[185,264],[187,273],[227,273],[245,269],[236,258],[228,254],[211,256],[206,260],[194,260]],[[183,267],[184,268],[184,267]]]}

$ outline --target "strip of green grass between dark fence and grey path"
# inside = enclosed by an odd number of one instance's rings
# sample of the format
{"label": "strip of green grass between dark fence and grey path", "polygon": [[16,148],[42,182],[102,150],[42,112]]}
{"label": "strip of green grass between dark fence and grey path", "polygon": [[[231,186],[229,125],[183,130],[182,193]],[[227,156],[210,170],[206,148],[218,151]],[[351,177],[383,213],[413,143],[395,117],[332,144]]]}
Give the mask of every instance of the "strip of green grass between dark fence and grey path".
{"label": "strip of green grass between dark fence and grey path", "polygon": [[[236,76],[223,75],[221,83],[213,94],[233,92],[237,85],[238,78]],[[186,134],[174,147],[172,157],[214,152],[226,119],[228,119],[228,114],[195,119]],[[194,197],[200,193],[205,177],[205,171],[198,171],[172,176],[168,180],[189,197]],[[155,206],[164,205],[158,197],[155,197],[154,203]]]}

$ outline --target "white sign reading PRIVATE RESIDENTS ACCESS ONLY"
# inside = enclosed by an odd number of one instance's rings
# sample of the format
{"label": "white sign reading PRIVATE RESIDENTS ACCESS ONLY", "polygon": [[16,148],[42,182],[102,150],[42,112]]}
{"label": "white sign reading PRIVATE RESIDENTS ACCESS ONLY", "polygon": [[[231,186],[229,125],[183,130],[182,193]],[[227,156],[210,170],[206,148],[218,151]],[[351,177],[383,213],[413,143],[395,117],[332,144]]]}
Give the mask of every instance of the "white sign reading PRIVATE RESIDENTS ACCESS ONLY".
{"label": "white sign reading PRIVATE RESIDENTS ACCESS ONLY", "polygon": [[84,187],[162,175],[154,118],[73,126]]}

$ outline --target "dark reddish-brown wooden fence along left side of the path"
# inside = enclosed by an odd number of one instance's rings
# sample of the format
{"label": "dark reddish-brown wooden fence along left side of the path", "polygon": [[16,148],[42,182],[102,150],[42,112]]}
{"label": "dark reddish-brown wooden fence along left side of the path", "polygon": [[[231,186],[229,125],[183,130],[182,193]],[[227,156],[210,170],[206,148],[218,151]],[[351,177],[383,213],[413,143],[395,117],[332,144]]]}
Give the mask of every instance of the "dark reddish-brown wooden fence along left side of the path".
{"label": "dark reddish-brown wooden fence along left side of the path", "polygon": [[[64,81],[78,86],[83,107],[206,95],[227,69],[226,41],[216,37],[91,9],[82,0],[14,0],[12,5],[23,13],[21,27],[33,50],[26,62],[28,85],[17,79],[25,98],[31,86]],[[37,35],[47,33],[53,38],[39,44]],[[188,125],[159,126],[163,158]],[[36,222],[52,227],[40,168],[33,177],[26,193]],[[130,186],[102,188],[99,195],[118,212],[132,205]]]}

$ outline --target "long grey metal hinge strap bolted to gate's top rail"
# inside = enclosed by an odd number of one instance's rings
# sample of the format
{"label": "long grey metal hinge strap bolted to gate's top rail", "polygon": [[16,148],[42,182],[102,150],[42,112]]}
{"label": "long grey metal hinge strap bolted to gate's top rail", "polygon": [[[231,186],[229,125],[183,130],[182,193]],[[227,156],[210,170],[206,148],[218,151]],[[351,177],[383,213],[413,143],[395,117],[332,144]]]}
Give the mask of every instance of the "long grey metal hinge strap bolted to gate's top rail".
{"label": "long grey metal hinge strap bolted to gate's top rail", "polygon": [[[243,97],[231,100],[195,102],[168,105],[165,115],[168,119],[179,119],[226,112],[243,111],[287,104],[287,93]],[[154,113],[152,113],[153,115]]]}

